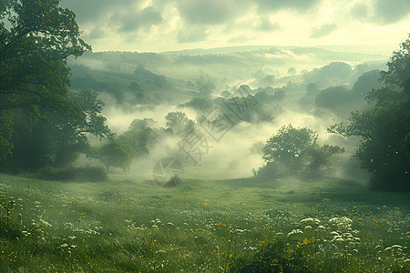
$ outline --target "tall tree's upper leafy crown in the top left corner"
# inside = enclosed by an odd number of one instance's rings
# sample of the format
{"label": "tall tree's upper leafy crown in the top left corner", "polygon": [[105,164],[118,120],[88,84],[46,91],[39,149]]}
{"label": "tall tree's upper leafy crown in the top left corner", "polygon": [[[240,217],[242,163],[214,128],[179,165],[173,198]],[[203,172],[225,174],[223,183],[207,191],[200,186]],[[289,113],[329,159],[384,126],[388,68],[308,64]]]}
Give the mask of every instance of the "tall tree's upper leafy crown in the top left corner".
{"label": "tall tree's upper leafy crown in the top left corner", "polygon": [[59,0],[0,0],[0,159],[10,157],[15,109],[35,118],[82,115],[67,96],[68,56],[90,50]]}

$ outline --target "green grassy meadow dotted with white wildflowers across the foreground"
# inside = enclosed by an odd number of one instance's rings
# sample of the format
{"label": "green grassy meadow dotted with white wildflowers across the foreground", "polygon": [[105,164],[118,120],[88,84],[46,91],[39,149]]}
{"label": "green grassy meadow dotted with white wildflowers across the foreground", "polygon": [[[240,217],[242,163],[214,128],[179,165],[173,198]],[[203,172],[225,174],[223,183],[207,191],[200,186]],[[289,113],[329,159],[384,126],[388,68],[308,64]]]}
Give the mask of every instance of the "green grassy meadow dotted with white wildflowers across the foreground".
{"label": "green grassy meadow dotted with white wildflowers across the foreground", "polygon": [[[162,188],[0,176],[2,272],[408,272],[409,194],[332,177]],[[308,181],[306,181],[308,180]]]}

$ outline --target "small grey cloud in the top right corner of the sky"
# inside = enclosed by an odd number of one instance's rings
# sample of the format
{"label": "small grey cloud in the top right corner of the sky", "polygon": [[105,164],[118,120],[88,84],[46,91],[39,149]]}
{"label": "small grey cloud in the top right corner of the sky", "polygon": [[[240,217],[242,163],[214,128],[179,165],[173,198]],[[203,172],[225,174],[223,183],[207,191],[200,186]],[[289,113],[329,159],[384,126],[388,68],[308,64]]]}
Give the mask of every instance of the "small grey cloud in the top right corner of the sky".
{"label": "small grey cloud in the top right corner of the sky", "polygon": [[410,14],[409,0],[376,0],[374,7],[374,20],[384,24],[398,22]]}

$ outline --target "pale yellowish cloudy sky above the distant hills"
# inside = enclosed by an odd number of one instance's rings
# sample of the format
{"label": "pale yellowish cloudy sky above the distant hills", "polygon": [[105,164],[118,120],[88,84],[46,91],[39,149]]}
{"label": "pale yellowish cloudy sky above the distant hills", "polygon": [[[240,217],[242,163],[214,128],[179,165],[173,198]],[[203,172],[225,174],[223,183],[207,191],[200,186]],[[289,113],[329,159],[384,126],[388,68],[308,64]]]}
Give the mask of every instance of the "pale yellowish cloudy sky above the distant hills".
{"label": "pale yellowish cloudy sky above the distant hills", "polygon": [[238,45],[369,45],[395,50],[410,0],[62,0],[97,51]]}

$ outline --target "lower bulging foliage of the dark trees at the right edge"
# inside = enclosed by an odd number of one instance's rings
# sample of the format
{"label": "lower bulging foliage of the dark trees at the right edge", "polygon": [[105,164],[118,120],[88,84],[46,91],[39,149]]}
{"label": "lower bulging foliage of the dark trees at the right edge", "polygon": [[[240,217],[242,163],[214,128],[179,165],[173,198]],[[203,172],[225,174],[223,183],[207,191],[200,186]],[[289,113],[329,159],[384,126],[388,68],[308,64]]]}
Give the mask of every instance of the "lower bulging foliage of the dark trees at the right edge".
{"label": "lower bulging foliage of the dark trees at the right edge", "polygon": [[400,103],[356,111],[347,124],[333,125],[332,133],[360,136],[356,157],[373,178],[373,187],[383,190],[410,190],[410,166],[405,153],[405,137],[410,132],[410,112]]}

